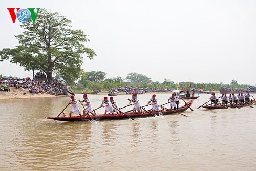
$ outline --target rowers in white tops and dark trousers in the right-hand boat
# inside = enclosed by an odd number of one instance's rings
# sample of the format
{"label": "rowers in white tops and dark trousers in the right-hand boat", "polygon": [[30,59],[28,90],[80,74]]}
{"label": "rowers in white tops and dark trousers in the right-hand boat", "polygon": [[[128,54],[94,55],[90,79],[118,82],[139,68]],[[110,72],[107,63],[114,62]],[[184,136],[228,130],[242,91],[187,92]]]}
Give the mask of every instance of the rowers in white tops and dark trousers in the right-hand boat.
{"label": "rowers in white tops and dark trousers in the right-hand boat", "polygon": [[[243,93],[239,93],[237,96],[234,95],[234,93],[229,94],[229,96],[227,96],[227,93],[222,94],[219,98],[222,100],[222,104],[228,106],[231,105],[244,105],[245,103],[249,103],[252,102],[253,100],[250,101],[250,92],[247,91],[244,95]],[[211,97],[209,98],[211,100],[211,104],[214,103],[215,106],[217,105],[222,105],[219,104],[219,98],[217,96],[215,96],[215,93],[211,94]]]}

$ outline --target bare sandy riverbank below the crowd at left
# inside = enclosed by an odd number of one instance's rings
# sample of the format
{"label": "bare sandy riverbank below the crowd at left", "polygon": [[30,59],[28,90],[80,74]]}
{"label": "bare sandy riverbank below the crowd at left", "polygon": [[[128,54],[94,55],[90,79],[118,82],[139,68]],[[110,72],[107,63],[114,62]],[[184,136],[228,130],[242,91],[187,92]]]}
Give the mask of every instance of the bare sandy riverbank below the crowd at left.
{"label": "bare sandy riverbank below the crowd at left", "polygon": [[28,90],[26,90],[26,94],[24,95],[24,89],[19,88],[10,88],[10,92],[0,92],[0,100],[1,99],[26,99],[26,98],[49,98],[49,97],[66,97],[66,95],[51,95],[51,94],[31,94]]}

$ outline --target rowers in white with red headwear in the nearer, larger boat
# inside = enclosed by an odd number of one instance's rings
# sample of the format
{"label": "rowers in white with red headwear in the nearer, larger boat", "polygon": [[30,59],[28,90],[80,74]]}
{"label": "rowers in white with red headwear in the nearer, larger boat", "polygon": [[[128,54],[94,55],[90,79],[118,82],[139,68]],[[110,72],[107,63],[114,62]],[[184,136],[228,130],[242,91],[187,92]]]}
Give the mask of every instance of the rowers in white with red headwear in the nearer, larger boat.
{"label": "rowers in white with red headwear in the nearer, larger boat", "polygon": [[[81,105],[84,107],[86,106],[86,108],[84,108],[83,110],[83,116],[86,117],[87,115],[89,116],[90,114],[92,114],[93,116],[96,116],[96,113],[94,112],[95,110],[92,110],[92,105],[91,105],[91,100],[88,98],[87,94],[83,95],[83,100],[78,100],[75,99],[74,95],[70,96],[71,100],[69,101],[69,104],[72,104],[72,109],[69,113],[69,116],[72,116],[72,113],[76,112],[77,114],[79,114],[82,117],[81,111],[79,109],[79,105],[78,105],[78,101],[81,103]],[[182,99],[181,97],[177,96],[175,93],[172,94],[172,96],[169,97],[168,99],[168,103],[170,103],[170,110],[172,110],[174,108],[174,110],[179,109],[179,98]],[[136,111],[138,111],[138,113],[141,114],[141,106],[140,106],[140,102],[139,99],[137,97],[137,94],[134,93],[132,95],[132,99],[128,99],[129,103],[127,104],[127,106],[129,105],[133,105],[133,114],[136,113]],[[152,98],[147,102],[147,105],[152,104],[152,112],[158,112],[159,111],[159,106],[157,104],[157,99],[156,99],[156,95],[152,95]],[[104,97],[102,103],[100,104],[99,108],[105,108],[105,113],[104,115],[106,116],[106,114],[109,112],[112,115],[115,115],[114,112],[118,114],[120,114],[120,108],[118,107],[116,101],[114,100],[113,97],[110,97],[110,100],[108,100],[108,97]],[[97,108],[97,109],[99,109]],[[93,113],[94,112],[94,113]]]}

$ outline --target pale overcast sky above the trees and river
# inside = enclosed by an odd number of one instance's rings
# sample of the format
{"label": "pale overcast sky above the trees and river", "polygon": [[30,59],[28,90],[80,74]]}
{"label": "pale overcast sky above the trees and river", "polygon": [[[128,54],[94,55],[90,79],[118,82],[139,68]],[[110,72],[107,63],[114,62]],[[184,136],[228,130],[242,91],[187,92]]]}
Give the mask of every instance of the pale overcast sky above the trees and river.
{"label": "pale overcast sky above the trees and river", "polygon": [[[137,72],[162,82],[256,84],[256,1],[1,1],[3,48],[18,45],[20,22],[7,8],[47,8],[89,35],[97,57],[84,71],[107,78]],[[30,76],[19,65],[0,62],[0,74]]]}

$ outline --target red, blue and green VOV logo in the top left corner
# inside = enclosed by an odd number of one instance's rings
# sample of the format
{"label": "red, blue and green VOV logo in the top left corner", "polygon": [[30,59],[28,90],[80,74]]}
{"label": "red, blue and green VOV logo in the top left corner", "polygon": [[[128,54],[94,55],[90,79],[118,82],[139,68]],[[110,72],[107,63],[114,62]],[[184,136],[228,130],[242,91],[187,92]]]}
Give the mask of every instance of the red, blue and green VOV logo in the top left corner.
{"label": "red, blue and green VOV logo in the top left corner", "polygon": [[34,11],[35,8],[28,8],[28,9],[16,8],[17,9],[17,13],[15,14],[15,12],[14,12],[15,8],[7,8],[7,9],[10,12],[10,15],[12,17],[12,22],[13,23],[15,23],[16,18],[18,18],[19,22],[26,23],[26,22],[28,22],[30,17],[32,18],[33,23],[35,23],[38,11],[40,10],[40,8],[36,8],[37,12],[35,13],[35,11]]}

